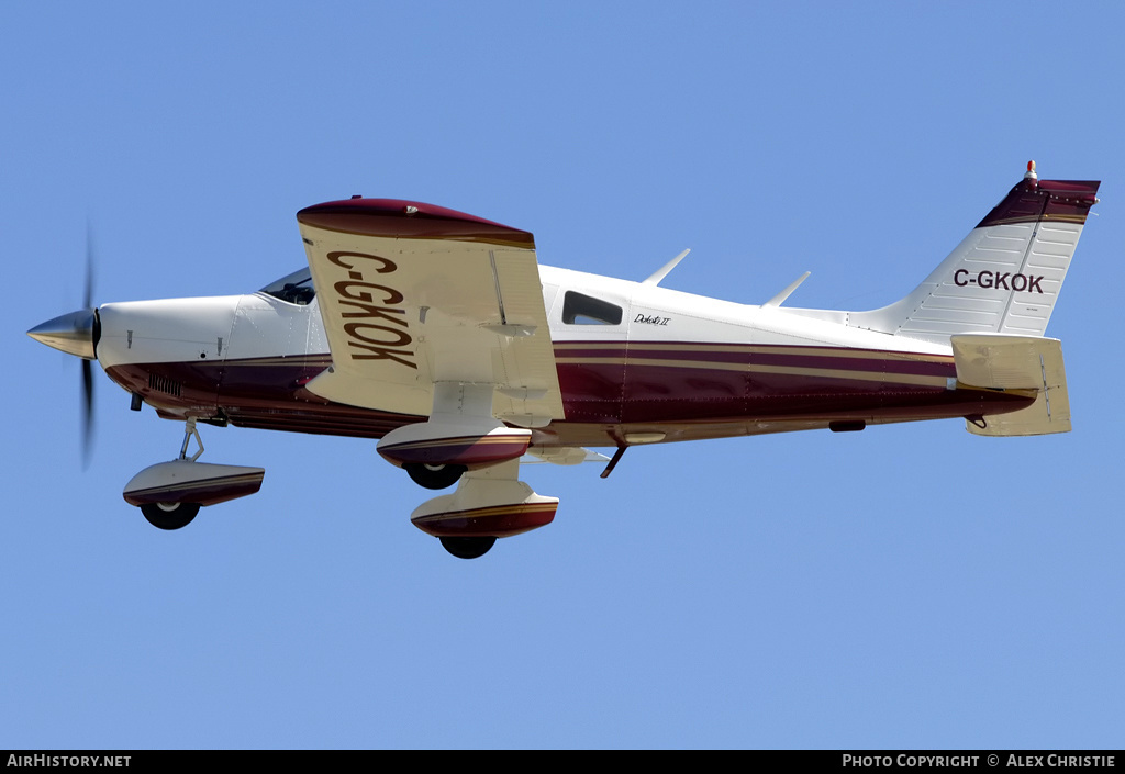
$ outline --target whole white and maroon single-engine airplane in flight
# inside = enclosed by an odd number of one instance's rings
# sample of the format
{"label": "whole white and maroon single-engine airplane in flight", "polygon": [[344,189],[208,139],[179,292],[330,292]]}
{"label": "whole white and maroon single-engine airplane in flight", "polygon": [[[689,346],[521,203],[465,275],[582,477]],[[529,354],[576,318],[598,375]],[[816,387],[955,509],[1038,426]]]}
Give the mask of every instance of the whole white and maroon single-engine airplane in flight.
{"label": "whole white and maroon single-engine airplane in flight", "polygon": [[660,287],[686,251],[642,282],[539,266],[525,231],[353,197],[297,213],[308,266],[258,292],[105,304],[28,334],[86,359],[88,402],[97,360],[134,410],[184,422],[179,457],[125,487],[155,526],[261,486],[261,468],[199,462],[198,423],[351,435],[423,487],[456,484],[412,521],[475,558],[555,518],[521,460],[608,460],[604,477],[646,443],[947,417],[1069,431],[1043,333],[1098,184],[1028,163],[917,288],[867,312],[783,306],[808,273],[760,306]]}

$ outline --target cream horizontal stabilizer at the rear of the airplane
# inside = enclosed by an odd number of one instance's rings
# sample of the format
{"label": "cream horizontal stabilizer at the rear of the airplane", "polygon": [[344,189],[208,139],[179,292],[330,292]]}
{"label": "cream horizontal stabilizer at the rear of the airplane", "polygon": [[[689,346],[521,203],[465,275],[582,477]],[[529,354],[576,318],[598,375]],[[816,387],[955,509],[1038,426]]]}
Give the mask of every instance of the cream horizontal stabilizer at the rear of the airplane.
{"label": "cream horizontal stabilizer at the rear of the airplane", "polygon": [[1070,432],[1070,397],[1058,339],[1004,334],[952,336],[957,382],[986,389],[1035,390],[1035,403],[1008,414],[966,420],[975,435],[1045,435]]}

